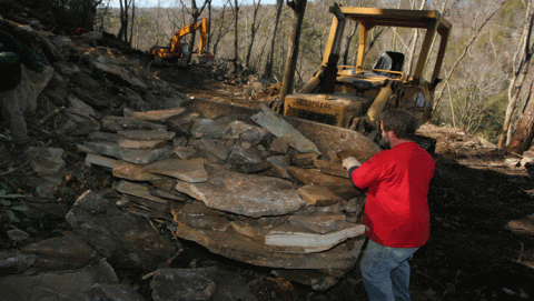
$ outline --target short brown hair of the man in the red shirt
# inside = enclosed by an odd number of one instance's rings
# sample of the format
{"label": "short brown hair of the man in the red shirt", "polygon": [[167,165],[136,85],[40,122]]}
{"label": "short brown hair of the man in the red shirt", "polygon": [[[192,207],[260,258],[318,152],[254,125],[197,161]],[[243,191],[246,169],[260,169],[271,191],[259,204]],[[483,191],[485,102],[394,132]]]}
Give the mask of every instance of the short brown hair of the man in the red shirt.
{"label": "short brown hair of the man in the red shirt", "polygon": [[417,121],[406,110],[392,109],[382,114],[385,131],[393,131],[398,139],[411,139],[415,134]]}

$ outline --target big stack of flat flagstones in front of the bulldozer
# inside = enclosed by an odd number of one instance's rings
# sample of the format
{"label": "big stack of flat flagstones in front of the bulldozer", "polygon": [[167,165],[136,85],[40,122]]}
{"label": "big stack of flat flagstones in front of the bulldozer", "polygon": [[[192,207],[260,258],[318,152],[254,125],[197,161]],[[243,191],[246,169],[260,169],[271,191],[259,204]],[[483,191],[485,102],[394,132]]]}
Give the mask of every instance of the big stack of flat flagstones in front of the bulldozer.
{"label": "big stack of flat flagstones in front of the bulldozer", "polygon": [[81,151],[111,170],[126,210],[214,253],[339,277],[359,253],[364,195],[269,109],[254,121],[184,108],[108,117]]}

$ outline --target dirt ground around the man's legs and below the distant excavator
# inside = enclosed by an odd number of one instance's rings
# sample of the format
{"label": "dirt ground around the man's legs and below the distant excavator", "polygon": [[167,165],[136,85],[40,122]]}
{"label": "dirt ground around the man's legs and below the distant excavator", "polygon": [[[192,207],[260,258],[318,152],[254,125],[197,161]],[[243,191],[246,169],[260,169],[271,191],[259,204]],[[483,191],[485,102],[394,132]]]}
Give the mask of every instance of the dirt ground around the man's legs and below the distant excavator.
{"label": "dirt ground around the man's legs and below the distant excavator", "polygon": [[[250,97],[247,84],[220,81],[209,68],[156,70],[190,97],[257,107],[273,91]],[[437,139],[436,172],[428,202],[431,239],[413,260],[413,300],[534,299],[534,181],[514,158],[456,129],[426,124],[422,134]],[[277,291],[264,300],[301,300],[297,287],[267,281]],[[287,288],[293,289],[287,289]],[[286,290],[281,289],[286,288]],[[307,300],[365,300],[358,272]]]}

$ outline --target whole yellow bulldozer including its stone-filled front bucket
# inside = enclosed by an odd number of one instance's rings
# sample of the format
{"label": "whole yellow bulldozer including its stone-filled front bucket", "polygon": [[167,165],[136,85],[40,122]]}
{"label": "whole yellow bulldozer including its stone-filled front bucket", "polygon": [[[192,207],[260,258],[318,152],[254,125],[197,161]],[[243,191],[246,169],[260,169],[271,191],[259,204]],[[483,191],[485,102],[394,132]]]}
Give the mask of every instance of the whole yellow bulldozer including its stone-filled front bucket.
{"label": "whole yellow bulldozer including its stone-filled front bucket", "polygon": [[[329,11],[334,18],[319,70],[298,93],[288,94],[270,107],[325,149],[332,143],[340,143],[342,149],[360,151],[365,158],[382,144],[379,119],[384,111],[393,108],[409,110],[418,126],[432,118],[434,92],[441,82],[438,77],[452,27],[436,10],[334,4]],[[359,26],[355,66],[338,64],[347,22]],[[414,68],[407,70],[405,54],[398,51],[385,51],[376,62],[366,60],[372,42],[369,32],[380,28],[425,31],[419,49],[414,49]],[[431,68],[431,72],[425,72]],[[246,108],[201,99],[182,106],[211,117],[241,114],[246,119],[254,113]],[[332,141],[334,139],[337,141]],[[415,140],[428,152],[434,151],[434,139],[417,136]]]}

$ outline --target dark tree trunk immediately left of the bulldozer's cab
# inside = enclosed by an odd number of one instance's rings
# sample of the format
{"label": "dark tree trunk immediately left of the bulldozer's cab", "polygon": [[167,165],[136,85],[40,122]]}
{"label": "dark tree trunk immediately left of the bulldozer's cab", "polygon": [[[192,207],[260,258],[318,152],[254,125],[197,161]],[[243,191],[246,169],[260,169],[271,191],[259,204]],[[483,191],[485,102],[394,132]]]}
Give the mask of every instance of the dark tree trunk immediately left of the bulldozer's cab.
{"label": "dark tree trunk immediately left of the bulldozer's cab", "polygon": [[303,29],[304,13],[306,12],[307,0],[295,0],[287,2],[294,12],[293,17],[293,37],[291,46],[287,54],[287,63],[284,70],[284,79],[281,81],[281,89],[279,100],[284,101],[286,96],[293,91],[295,81],[295,70],[297,68],[298,44],[300,41],[300,31]]}

